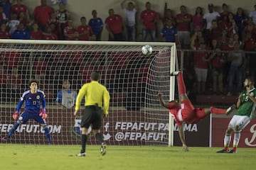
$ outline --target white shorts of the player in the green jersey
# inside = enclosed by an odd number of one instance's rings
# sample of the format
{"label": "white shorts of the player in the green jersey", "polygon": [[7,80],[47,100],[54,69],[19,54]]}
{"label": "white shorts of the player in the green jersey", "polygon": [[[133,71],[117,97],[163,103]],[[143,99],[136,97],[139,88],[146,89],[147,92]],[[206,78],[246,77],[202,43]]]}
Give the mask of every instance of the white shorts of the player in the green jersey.
{"label": "white shorts of the player in the green jersey", "polygon": [[228,124],[228,128],[235,130],[235,127],[238,126],[240,131],[245,128],[248,123],[250,123],[250,118],[247,115],[233,115],[233,118]]}

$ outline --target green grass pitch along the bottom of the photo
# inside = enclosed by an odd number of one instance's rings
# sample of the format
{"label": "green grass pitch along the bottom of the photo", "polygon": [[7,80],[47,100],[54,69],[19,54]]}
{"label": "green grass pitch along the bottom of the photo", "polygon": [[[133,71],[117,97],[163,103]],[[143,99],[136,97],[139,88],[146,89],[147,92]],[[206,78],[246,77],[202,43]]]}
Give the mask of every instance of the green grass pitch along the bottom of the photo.
{"label": "green grass pitch along the bottom of the photo", "polygon": [[238,148],[236,154],[216,154],[221,148],[107,146],[100,156],[99,145],[87,145],[86,157],[75,157],[79,145],[11,145],[0,144],[1,169],[121,170],[121,169],[255,169],[256,149]]}

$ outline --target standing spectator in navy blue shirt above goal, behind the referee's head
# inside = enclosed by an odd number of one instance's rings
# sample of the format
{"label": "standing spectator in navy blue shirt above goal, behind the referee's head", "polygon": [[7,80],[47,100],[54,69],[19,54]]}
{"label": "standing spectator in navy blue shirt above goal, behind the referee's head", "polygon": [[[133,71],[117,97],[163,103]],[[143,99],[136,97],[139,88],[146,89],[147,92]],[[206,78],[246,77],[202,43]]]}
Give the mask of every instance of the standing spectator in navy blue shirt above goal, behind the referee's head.
{"label": "standing spectator in navy blue shirt above goal, behind the referee's head", "polygon": [[92,18],[90,18],[88,25],[92,28],[93,34],[96,35],[97,40],[101,40],[103,22],[101,18],[97,17],[96,10],[92,10]]}

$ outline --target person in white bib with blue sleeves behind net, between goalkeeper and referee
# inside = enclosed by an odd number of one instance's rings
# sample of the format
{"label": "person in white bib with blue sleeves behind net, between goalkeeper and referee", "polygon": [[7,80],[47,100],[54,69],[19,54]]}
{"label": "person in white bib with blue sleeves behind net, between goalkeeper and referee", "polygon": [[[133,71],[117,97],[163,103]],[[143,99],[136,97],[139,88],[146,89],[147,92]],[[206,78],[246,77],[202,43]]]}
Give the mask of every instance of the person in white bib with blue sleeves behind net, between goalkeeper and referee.
{"label": "person in white bib with blue sleeves behind net, between goalkeeper and referee", "polygon": [[63,89],[58,91],[56,98],[57,106],[64,106],[65,108],[73,108],[75,106],[75,99],[77,92],[70,89],[70,81],[63,81]]}

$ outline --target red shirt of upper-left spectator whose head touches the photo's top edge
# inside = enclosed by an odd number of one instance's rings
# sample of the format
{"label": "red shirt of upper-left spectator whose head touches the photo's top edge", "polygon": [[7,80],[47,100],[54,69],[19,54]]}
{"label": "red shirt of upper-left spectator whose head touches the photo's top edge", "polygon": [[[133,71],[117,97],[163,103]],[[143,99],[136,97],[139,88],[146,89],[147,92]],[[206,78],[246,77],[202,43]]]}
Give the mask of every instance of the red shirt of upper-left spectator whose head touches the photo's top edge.
{"label": "red shirt of upper-left spectator whose head touches the photo's top edge", "polygon": [[33,11],[33,17],[39,26],[46,26],[50,20],[50,14],[53,12],[53,9],[50,6],[36,6]]}

